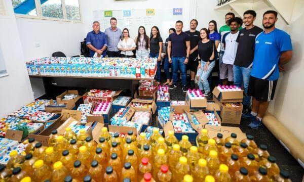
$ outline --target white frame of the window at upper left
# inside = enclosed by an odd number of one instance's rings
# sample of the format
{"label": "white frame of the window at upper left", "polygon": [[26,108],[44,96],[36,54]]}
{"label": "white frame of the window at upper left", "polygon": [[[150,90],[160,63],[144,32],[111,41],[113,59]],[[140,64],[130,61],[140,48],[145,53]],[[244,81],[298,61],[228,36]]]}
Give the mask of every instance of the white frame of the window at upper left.
{"label": "white frame of the window at upper left", "polygon": [[[0,0],[0,1],[3,1],[3,0]],[[32,19],[38,19],[38,20],[52,20],[52,21],[62,21],[62,22],[83,23],[82,11],[81,11],[81,1],[80,0],[78,0],[80,20],[69,20],[69,19],[67,19],[66,9],[65,9],[65,0],[60,0],[60,1],[61,1],[61,8],[62,8],[63,18],[51,18],[51,17],[43,16],[40,0],[34,0],[35,6],[36,6],[37,16],[15,14],[15,17],[17,17],[17,18],[32,18]]]}

